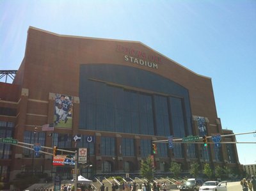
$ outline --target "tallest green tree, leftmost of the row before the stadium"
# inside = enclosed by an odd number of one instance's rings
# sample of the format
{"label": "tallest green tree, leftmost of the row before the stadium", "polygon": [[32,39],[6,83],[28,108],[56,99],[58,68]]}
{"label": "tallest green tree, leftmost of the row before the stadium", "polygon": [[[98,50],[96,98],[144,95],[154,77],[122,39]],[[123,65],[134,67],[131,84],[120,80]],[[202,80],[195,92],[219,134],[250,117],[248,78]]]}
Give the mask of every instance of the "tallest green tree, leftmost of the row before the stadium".
{"label": "tallest green tree, leftmost of the row before the stadium", "polygon": [[154,178],[155,168],[154,161],[151,157],[148,157],[145,161],[141,161],[140,174],[141,176],[147,178],[147,180],[152,181]]}

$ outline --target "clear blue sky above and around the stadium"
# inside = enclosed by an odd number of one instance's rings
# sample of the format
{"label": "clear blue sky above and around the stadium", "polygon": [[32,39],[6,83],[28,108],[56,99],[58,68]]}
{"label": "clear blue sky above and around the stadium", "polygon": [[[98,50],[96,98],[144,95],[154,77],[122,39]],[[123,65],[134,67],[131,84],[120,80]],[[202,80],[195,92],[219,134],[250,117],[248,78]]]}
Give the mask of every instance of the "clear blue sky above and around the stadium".
{"label": "clear blue sky above and around the stadium", "polygon": [[[212,78],[218,117],[235,134],[256,130],[255,0],[0,0],[0,70],[18,70],[28,27],[139,41]],[[256,142],[256,135],[237,135]],[[237,144],[256,164],[256,144]]]}

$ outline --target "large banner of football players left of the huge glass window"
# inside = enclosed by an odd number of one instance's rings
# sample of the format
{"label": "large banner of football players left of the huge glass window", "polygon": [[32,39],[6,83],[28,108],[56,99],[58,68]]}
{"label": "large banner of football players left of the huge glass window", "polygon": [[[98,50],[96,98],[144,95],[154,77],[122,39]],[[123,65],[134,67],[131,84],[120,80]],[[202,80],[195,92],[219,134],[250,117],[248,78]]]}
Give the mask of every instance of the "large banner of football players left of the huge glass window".
{"label": "large banner of football players left of the huge glass window", "polygon": [[72,128],[73,97],[56,93],[54,126]]}

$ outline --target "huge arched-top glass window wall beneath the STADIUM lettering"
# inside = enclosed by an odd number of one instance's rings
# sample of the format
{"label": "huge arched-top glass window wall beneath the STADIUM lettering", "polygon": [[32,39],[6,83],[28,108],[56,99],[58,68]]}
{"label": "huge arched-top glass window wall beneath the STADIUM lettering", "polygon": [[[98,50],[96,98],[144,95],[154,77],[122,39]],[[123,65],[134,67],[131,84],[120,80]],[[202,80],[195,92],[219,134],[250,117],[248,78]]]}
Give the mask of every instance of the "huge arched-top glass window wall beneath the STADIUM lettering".
{"label": "huge arched-top glass window wall beneath the STADIUM lettering", "polygon": [[191,134],[188,89],[129,66],[80,67],[79,128],[165,137]]}

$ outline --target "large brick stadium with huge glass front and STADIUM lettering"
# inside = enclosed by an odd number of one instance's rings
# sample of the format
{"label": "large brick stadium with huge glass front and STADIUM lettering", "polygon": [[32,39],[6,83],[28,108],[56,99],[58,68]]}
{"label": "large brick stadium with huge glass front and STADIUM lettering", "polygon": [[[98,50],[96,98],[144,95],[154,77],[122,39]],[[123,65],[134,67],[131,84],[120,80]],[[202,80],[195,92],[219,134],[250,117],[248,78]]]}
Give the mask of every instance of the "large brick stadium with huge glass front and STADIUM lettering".
{"label": "large brick stadium with huge glass front and STADIUM lettering", "polygon": [[[79,169],[89,179],[139,174],[141,161],[152,155],[152,142],[157,145],[156,174],[170,173],[171,162],[181,164],[184,173],[193,162],[201,169],[205,163],[212,169],[240,166],[236,144],[216,147],[210,138],[207,146],[175,142],[233,132],[221,128],[210,77],[141,42],[29,27],[24,59],[12,84],[0,82],[0,98],[1,138],[48,148],[86,148]],[[170,136],[173,148],[166,141]],[[72,178],[74,167],[53,165],[51,155],[3,142],[0,146],[4,182],[21,172]]]}

